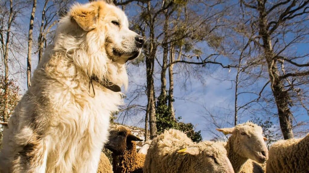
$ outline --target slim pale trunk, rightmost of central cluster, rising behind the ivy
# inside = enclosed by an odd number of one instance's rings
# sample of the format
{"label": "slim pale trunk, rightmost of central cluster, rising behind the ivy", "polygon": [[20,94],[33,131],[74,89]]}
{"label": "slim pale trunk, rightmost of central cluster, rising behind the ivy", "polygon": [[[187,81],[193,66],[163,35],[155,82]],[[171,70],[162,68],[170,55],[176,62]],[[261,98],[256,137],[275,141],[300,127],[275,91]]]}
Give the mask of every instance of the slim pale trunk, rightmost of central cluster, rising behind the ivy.
{"label": "slim pale trunk, rightmost of central cluster, rising behind the ivy", "polygon": [[[181,51],[182,47],[180,47]],[[180,53],[181,54],[181,53]],[[170,63],[172,63],[175,60],[175,52],[174,52],[174,46],[171,46],[170,50]],[[171,116],[174,120],[176,120],[175,117],[175,111],[174,111],[174,74],[173,74],[173,68],[174,64],[171,64],[168,67],[168,78],[169,78],[169,90],[168,90],[168,109],[171,110]]]}

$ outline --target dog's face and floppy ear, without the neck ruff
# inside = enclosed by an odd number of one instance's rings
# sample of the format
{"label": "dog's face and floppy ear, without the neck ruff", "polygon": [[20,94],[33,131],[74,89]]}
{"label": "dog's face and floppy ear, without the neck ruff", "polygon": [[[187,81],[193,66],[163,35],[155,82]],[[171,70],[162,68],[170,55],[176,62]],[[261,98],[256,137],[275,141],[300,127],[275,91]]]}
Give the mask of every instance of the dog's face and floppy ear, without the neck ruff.
{"label": "dog's face and floppy ear, without the neck ruff", "polygon": [[85,32],[93,32],[96,38],[104,39],[97,43],[104,47],[112,61],[123,63],[138,57],[141,52],[144,39],[129,29],[125,13],[116,6],[102,1],[76,5],[70,15]]}

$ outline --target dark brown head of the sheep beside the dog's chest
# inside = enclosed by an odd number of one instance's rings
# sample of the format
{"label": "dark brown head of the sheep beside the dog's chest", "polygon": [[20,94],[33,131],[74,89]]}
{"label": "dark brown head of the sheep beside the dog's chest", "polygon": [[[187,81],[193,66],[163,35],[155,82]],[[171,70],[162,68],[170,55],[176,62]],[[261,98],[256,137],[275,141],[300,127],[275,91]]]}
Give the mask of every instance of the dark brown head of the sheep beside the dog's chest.
{"label": "dark brown head of the sheep beside the dog's chest", "polygon": [[110,131],[108,142],[105,148],[111,150],[115,155],[121,155],[126,150],[132,149],[134,141],[142,141],[140,138],[131,134],[129,129],[121,126]]}

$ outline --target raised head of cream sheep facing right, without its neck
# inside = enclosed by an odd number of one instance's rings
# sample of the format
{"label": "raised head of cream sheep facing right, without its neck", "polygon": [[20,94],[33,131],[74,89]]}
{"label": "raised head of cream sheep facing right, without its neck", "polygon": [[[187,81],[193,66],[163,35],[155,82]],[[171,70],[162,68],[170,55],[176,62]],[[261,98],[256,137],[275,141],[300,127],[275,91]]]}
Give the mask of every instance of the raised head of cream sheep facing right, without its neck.
{"label": "raised head of cream sheep facing right, without its neck", "polygon": [[243,158],[250,158],[259,163],[268,159],[268,149],[263,137],[263,130],[253,123],[239,124],[233,128],[218,129],[225,134],[232,134],[234,138],[233,150]]}

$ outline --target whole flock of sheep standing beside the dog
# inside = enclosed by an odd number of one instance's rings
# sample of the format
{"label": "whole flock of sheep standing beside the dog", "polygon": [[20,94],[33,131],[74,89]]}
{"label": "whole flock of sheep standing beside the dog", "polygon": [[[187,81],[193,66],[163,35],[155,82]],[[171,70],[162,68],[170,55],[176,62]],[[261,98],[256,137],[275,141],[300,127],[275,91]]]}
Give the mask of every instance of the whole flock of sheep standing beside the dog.
{"label": "whole flock of sheep standing beside the dog", "polygon": [[281,140],[268,152],[262,128],[251,122],[217,129],[231,134],[227,142],[193,142],[170,129],[137,152],[135,137],[124,126],[113,126],[105,148],[112,151],[112,165],[101,154],[100,173],[308,173],[309,134]]}

